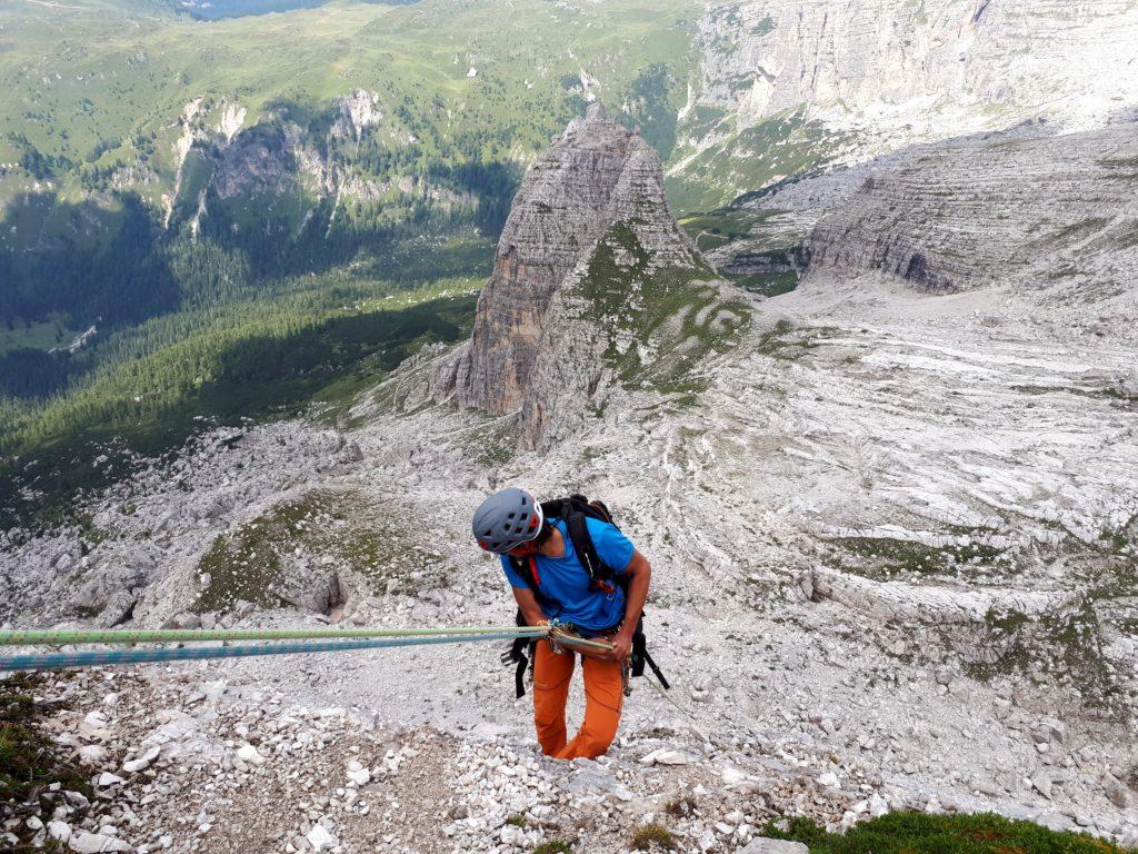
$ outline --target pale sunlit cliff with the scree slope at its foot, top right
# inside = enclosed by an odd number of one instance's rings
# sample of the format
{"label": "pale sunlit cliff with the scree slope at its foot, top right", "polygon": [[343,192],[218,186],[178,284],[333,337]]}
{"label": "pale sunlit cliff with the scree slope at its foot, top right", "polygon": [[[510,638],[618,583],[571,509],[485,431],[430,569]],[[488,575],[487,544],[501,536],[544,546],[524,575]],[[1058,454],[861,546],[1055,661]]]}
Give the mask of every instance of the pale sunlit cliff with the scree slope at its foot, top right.
{"label": "pale sunlit cliff with the scree slope at its foot, top right", "polygon": [[669,178],[710,184],[708,210],[803,169],[1026,120],[1103,126],[1138,102],[1136,40],[1127,0],[716,3]]}

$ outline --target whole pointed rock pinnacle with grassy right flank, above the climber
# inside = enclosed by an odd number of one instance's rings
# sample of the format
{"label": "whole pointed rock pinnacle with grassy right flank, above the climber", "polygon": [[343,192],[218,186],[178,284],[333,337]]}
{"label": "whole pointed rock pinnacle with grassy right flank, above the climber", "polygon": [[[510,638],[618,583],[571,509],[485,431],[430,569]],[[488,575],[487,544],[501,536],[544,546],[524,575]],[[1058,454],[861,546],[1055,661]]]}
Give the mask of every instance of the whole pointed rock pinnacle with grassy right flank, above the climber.
{"label": "whole pointed rock pinnacle with grassy right flank, above the climber", "polygon": [[591,105],[527,173],[439,391],[520,409],[523,445],[549,447],[613,381],[675,381],[726,340],[747,315],[729,290],[673,219],[655,151]]}

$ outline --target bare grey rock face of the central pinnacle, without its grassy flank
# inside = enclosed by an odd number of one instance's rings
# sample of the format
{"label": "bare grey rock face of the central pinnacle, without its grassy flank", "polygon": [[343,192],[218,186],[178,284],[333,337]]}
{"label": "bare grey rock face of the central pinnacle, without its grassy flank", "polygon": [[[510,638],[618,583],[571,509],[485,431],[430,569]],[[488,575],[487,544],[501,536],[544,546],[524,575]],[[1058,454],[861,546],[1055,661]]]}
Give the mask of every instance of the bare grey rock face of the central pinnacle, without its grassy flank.
{"label": "bare grey rock face of the central pinnacle, without its grassy flank", "polygon": [[459,403],[496,414],[521,405],[553,295],[621,221],[635,223],[657,264],[692,265],[655,151],[592,105],[529,169],[514,198],[457,367]]}

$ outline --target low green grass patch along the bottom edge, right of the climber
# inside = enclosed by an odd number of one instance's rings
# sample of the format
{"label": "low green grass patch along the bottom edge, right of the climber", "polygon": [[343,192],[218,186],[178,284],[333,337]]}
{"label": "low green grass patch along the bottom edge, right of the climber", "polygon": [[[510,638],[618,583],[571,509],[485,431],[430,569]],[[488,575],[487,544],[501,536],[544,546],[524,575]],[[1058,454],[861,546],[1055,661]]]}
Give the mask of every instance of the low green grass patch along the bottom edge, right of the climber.
{"label": "low green grass patch along the bottom edge, right of the climber", "polygon": [[793,839],[810,854],[1127,854],[1114,843],[992,813],[929,815],[896,812],[827,834],[809,819],[787,820],[786,830],[769,823],[764,836]]}

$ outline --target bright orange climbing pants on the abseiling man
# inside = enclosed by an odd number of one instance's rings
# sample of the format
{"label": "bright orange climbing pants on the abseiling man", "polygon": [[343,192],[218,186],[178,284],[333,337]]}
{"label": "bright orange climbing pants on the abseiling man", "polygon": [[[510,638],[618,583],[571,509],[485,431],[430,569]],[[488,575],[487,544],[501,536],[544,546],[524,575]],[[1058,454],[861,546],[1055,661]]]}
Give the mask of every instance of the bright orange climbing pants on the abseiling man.
{"label": "bright orange climbing pants on the abseiling man", "polygon": [[558,655],[550,642],[537,642],[534,659],[534,723],[542,753],[558,759],[584,756],[594,759],[612,744],[620,724],[625,685],[619,662],[584,656],[585,720],[572,741],[566,744],[566,703],[576,655]]}

